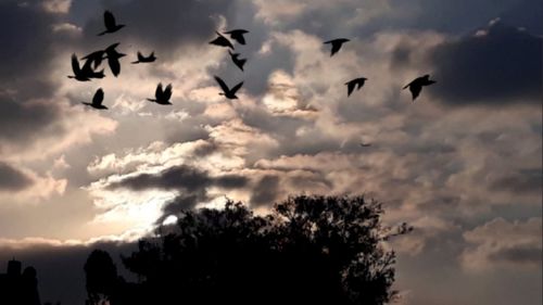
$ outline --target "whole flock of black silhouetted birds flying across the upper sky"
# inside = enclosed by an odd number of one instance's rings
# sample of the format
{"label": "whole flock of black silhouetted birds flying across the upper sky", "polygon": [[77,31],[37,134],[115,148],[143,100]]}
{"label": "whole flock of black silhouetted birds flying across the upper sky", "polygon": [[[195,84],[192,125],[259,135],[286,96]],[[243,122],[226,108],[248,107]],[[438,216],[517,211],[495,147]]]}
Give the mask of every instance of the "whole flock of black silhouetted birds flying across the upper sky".
{"label": "whole flock of black silhouetted birds flying across the upper sky", "polygon": [[[121,28],[125,27],[123,24],[117,24],[115,21],[115,17],[110,11],[104,12],[104,25],[105,25],[105,30],[101,31],[98,34],[98,36],[102,36],[105,34],[112,34]],[[248,34],[249,30],[245,29],[232,29],[225,31],[225,35],[228,35],[231,40],[236,41],[239,45],[245,45],[245,38],[244,35]],[[231,50],[228,50],[228,54],[231,58],[231,61],[233,64],[243,71],[243,66],[247,63],[247,59],[240,58],[240,53],[233,53],[232,51],[235,50],[235,47],[230,39],[226,38],[223,34],[216,31],[217,37],[210,41],[211,45],[218,46],[218,47],[224,47],[224,48],[229,48]],[[343,46],[343,43],[349,42],[350,40],[346,38],[338,38],[329,41],[325,41],[325,45],[331,45],[331,52],[330,56],[333,56],[336,53],[338,53]],[[117,77],[121,73],[121,62],[119,59],[123,56],[126,56],[126,54],[117,52],[116,48],[118,47],[117,43],[113,43],[110,47],[105,48],[104,50],[98,50],[94,51],[84,58],[81,58],[81,61],[85,61],[83,66],[79,66],[79,60],[77,59],[76,54],[72,55],[72,69],[74,72],[73,76],[68,76],[68,78],[74,78],[79,81],[88,81],[91,80],[92,78],[103,78],[104,75],[104,69],[98,71],[100,65],[104,60],[108,61],[108,65],[110,66],[110,69],[112,74]],[[156,56],[154,55],[154,52],[151,52],[148,56],[144,56],[141,54],[139,51],[137,53],[137,61],[131,62],[132,64],[139,64],[139,63],[152,63],[156,60]],[[219,94],[224,96],[227,99],[235,100],[238,99],[236,96],[236,92],[238,92],[239,89],[243,86],[243,81],[237,84],[233,87],[228,87],[226,82],[218,76],[215,76],[215,80],[217,81],[218,86],[220,87],[222,91]],[[344,85],[348,88],[348,97],[350,97],[353,91],[359,90],[367,78],[365,77],[358,77],[354,78],[352,80],[346,81]],[[430,86],[434,84],[434,80],[430,79],[430,75],[424,75],[420,77],[415,78],[413,81],[407,84],[403,89],[409,88],[409,91],[413,97],[413,101],[417,99],[417,97],[420,94],[420,91],[422,90],[422,87]],[[172,98],[172,84],[167,85],[166,88],[164,89],[162,84],[159,84],[156,86],[156,90],[154,92],[154,99],[147,99],[150,102],[154,102],[161,105],[171,105],[172,102],[169,101]],[[102,104],[104,99],[104,92],[102,88],[99,88],[93,98],[92,102],[83,102],[86,105],[89,105],[94,109],[99,110],[106,110],[108,107]],[[363,147],[369,147],[370,144],[362,143],[361,145]]]}

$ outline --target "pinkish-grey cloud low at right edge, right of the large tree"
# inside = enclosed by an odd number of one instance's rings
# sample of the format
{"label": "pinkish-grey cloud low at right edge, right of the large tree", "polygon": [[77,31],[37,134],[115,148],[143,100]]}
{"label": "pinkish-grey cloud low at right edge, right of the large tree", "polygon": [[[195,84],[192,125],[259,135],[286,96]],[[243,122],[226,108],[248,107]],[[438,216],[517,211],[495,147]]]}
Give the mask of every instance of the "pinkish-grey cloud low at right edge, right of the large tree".
{"label": "pinkish-grey cloud low at right edge, right of the large tree", "polygon": [[462,253],[464,268],[477,271],[496,266],[541,268],[541,218],[509,223],[495,218],[464,233],[470,245]]}

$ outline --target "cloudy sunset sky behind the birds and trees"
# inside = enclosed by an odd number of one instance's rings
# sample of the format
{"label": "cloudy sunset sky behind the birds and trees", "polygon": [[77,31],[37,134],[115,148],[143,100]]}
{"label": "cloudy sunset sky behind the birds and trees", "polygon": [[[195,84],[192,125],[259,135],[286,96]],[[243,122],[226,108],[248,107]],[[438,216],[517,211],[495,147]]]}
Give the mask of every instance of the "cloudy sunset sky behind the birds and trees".
{"label": "cloudy sunset sky behind the birds and trees", "polygon": [[[99,37],[105,10],[126,27]],[[541,20],[538,0],[0,0],[0,272],[15,256],[42,301],[83,304],[91,249],[118,263],[178,211],[365,194],[415,227],[391,243],[399,304],[541,304]],[[244,72],[207,43],[232,28]],[[66,77],[114,42],[118,77]],[[146,100],[159,82],[173,105]],[[98,88],[108,111],[81,104]]]}

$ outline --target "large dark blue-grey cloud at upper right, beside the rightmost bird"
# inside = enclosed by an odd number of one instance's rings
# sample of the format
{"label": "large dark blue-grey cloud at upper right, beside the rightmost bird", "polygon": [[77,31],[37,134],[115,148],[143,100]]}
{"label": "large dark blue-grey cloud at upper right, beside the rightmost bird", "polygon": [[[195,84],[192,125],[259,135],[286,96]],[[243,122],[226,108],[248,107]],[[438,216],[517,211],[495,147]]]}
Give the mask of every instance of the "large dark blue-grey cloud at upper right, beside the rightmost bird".
{"label": "large dark blue-grey cloud at upper right, beside the rightmost bird", "polygon": [[431,51],[438,84],[429,91],[449,104],[540,104],[543,39],[501,22],[483,30]]}

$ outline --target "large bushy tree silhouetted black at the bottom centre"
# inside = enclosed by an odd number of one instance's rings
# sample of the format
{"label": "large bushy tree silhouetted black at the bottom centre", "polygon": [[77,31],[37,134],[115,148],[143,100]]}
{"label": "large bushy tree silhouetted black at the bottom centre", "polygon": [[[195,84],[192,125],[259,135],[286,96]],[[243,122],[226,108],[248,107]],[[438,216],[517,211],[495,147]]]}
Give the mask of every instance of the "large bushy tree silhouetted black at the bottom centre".
{"label": "large bushy tree silhouetted black at the bottom centre", "polygon": [[409,228],[382,227],[382,213],[363,196],[305,195],[267,216],[233,202],[186,211],[123,257],[139,281],[118,280],[110,302],[383,304],[394,296],[394,253],[381,242]]}

